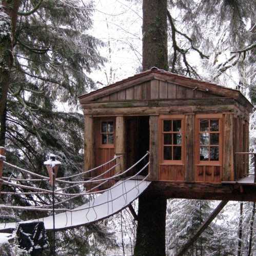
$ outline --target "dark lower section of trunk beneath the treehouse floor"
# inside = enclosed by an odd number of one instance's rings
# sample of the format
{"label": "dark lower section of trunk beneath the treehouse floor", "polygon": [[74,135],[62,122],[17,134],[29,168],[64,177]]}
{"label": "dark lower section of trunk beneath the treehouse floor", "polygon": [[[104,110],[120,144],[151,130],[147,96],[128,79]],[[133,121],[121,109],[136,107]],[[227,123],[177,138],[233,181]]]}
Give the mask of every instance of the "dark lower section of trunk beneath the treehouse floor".
{"label": "dark lower section of trunk beneath the treehouse floor", "polygon": [[165,255],[165,219],[166,199],[140,196],[134,256]]}

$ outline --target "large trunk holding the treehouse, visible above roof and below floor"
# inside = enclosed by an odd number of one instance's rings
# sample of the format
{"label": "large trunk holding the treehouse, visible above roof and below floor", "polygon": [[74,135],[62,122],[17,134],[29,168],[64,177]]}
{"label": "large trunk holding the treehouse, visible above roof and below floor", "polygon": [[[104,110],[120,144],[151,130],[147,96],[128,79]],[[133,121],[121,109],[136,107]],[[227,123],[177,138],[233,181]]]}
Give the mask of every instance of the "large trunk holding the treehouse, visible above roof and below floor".
{"label": "large trunk holding the treehouse, visible above roof and below floor", "polygon": [[[143,70],[153,66],[168,70],[167,0],[143,0]],[[165,221],[166,199],[143,193],[134,256],[165,255]]]}

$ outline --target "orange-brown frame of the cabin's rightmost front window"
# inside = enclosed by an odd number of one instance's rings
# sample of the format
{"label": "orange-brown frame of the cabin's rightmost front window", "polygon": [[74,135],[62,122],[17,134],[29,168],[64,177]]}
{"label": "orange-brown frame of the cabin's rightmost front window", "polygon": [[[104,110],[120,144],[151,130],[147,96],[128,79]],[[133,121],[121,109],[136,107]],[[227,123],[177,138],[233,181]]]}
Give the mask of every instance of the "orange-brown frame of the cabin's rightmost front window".
{"label": "orange-brown frame of the cabin's rightmost front window", "polygon": [[[202,161],[200,160],[200,120],[219,120],[219,132],[210,132],[219,134],[219,160]],[[210,144],[209,144],[210,145]],[[210,152],[209,152],[210,153]],[[223,154],[223,114],[196,114],[195,115],[195,164],[198,166],[222,166]]]}

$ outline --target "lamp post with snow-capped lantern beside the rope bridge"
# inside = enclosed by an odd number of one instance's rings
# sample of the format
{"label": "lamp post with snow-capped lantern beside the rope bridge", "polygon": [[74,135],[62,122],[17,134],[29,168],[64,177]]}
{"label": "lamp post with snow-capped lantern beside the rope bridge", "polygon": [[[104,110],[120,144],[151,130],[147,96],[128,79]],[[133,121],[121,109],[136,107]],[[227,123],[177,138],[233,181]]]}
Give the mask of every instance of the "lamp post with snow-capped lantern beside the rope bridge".
{"label": "lamp post with snow-capped lantern beside the rope bridge", "polygon": [[55,209],[54,209],[54,190],[55,190],[55,177],[57,176],[58,167],[61,165],[60,161],[56,160],[54,154],[50,154],[50,159],[44,162],[49,174],[49,182],[52,186],[52,219],[53,219],[53,242],[52,242],[52,255],[55,256]]}

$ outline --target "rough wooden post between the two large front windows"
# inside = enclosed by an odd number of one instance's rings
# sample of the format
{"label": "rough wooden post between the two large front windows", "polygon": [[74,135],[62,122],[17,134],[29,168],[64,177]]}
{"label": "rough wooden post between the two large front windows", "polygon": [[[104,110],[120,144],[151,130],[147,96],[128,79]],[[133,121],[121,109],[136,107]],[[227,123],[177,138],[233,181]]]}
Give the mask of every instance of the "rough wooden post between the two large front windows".
{"label": "rough wooden post between the two large front windows", "polygon": [[194,115],[185,115],[185,181],[194,181]]}

